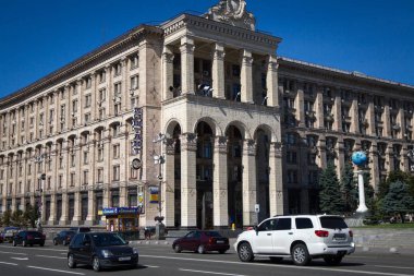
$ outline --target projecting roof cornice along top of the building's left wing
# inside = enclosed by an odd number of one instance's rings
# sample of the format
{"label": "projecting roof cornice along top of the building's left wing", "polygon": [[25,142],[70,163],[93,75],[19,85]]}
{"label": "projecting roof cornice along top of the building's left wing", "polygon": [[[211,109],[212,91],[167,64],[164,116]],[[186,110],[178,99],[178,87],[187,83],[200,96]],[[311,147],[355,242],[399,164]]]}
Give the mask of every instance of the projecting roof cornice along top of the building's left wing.
{"label": "projecting roof cornice along top of the building's left wing", "polygon": [[163,32],[159,27],[149,25],[139,25],[125,34],[114,38],[113,40],[100,46],[99,48],[82,56],[81,58],[70,62],[69,64],[58,69],[50,74],[41,77],[35,83],[23,87],[3,98],[0,99],[0,108],[5,108],[9,105],[13,105],[19,100],[22,100],[31,94],[38,92],[39,89],[45,89],[52,85],[56,85],[65,79],[75,75],[84,71],[87,67],[94,64],[94,62],[99,61],[101,58],[112,56],[118,53],[120,50],[127,46],[134,45],[134,43],[139,41],[144,36],[148,34],[162,35]]}

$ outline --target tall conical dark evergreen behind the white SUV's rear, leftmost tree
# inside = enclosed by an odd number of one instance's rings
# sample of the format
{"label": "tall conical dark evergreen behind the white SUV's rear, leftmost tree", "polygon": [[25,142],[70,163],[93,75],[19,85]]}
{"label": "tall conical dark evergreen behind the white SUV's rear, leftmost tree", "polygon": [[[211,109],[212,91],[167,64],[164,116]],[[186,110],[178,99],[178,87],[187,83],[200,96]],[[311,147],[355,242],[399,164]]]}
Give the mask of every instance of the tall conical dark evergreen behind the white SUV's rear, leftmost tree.
{"label": "tall conical dark evergreen behind the white SUV's rear, leftmost tree", "polygon": [[329,163],[327,168],[321,171],[319,188],[320,211],[329,214],[342,214],[344,202],[338,175],[332,163]]}

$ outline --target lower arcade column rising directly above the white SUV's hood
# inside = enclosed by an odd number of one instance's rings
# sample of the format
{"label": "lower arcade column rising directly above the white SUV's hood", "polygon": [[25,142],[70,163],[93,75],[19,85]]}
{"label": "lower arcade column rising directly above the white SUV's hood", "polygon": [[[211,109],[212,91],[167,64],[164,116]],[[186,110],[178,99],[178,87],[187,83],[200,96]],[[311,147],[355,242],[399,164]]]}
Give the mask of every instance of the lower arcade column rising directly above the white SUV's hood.
{"label": "lower arcade column rising directly above the white SUV's hood", "polygon": [[255,204],[257,203],[256,145],[254,140],[243,144],[243,226],[257,224]]}

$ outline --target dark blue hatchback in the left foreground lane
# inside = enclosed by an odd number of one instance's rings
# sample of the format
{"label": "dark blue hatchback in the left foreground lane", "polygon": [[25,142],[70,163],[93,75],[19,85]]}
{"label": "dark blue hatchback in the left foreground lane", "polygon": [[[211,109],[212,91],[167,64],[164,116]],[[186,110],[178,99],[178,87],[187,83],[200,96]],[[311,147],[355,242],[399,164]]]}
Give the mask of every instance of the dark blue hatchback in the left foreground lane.
{"label": "dark blue hatchback in the left foreground lane", "polygon": [[68,266],[92,265],[94,271],[115,266],[136,267],[138,251],[114,232],[76,233],[69,244]]}

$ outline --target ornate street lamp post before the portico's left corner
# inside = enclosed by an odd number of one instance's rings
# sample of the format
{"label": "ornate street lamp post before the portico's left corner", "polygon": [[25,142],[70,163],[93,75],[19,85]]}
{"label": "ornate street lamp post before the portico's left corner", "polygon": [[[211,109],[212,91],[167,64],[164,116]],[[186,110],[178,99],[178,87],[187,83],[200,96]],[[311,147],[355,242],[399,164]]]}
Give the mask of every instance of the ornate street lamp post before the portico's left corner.
{"label": "ornate street lamp post before the portico's left corner", "polygon": [[[166,135],[165,134],[161,134],[159,133],[157,135],[157,137],[153,141],[154,143],[163,143],[166,140]],[[158,240],[163,240],[166,237],[165,237],[165,230],[166,230],[166,226],[162,224],[162,220],[163,220],[163,216],[161,214],[162,212],[162,202],[161,202],[161,189],[162,189],[162,164],[166,163],[166,157],[165,155],[162,154],[162,144],[161,144],[161,152],[159,155],[154,155],[154,164],[155,165],[159,165],[158,167],[158,213],[159,215],[155,217],[155,220],[157,220],[157,225],[156,225],[156,238]]]}

